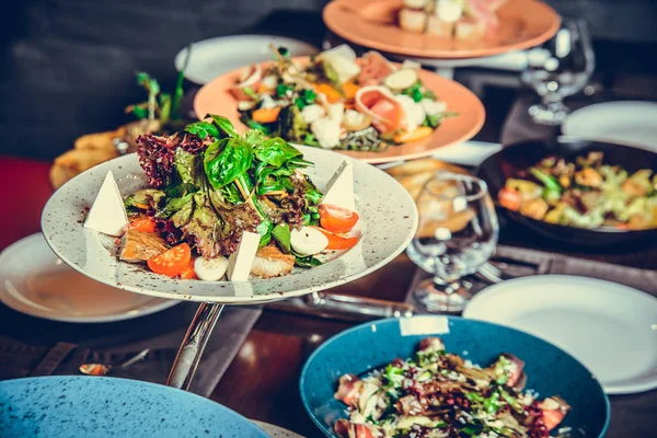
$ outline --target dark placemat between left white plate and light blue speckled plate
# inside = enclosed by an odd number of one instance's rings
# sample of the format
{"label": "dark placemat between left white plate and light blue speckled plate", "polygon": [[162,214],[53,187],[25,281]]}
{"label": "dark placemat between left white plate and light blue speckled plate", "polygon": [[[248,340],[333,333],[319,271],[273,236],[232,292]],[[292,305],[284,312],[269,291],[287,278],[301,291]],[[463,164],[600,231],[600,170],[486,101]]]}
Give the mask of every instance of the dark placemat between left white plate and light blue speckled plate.
{"label": "dark placemat between left white plate and light blue speckled plate", "polygon": [[[0,380],[79,374],[85,362],[118,365],[145,348],[145,360],[117,377],[164,383],[198,303],[128,321],[76,324],[42,320],[0,304]],[[191,391],[209,396],[232,361],[261,307],[227,307],[215,326]]]}

